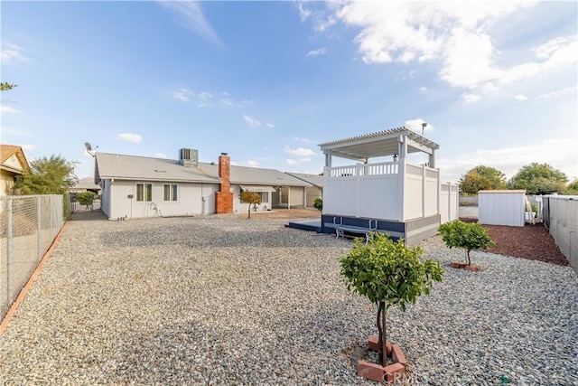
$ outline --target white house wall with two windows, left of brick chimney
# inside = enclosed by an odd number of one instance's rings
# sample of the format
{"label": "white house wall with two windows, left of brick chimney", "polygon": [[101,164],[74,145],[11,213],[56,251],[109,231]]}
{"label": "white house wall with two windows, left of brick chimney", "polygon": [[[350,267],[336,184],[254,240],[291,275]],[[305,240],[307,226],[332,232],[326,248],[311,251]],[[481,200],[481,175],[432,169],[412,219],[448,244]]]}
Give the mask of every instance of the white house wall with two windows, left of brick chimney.
{"label": "white house wall with two windows, left of brick chimney", "polygon": [[[136,184],[153,184],[152,201],[136,201]],[[164,201],[164,184],[177,184],[177,201]],[[218,184],[116,180],[108,186],[108,189],[105,184],[101,204],[103,212],[112,220],[124,217],[131,219],[160,215],[211,214],[215,212],[215,192],[218,189]],[[132,194],[133,198],[128,198],[129,194]]]}

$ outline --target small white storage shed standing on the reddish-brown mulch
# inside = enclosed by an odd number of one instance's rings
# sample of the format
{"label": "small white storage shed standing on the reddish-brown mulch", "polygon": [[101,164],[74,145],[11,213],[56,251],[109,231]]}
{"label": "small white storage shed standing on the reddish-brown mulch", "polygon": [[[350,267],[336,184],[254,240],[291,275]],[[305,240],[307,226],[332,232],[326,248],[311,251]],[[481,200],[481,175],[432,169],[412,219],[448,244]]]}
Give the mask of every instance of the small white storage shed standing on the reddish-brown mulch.
{"label": "small white storage shed standing on the reddish-brown mulch", "polygon": [[478,220],[488,225],[524,226],[525,191],[480,191]]}

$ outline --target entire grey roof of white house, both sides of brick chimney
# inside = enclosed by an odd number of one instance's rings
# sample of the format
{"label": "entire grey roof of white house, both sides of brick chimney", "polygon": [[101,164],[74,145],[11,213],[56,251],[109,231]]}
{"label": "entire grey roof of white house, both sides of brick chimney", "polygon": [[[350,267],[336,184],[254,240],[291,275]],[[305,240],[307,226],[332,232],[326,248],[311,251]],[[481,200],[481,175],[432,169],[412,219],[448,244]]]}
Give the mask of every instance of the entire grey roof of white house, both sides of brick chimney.
{"label": "entire grey roof of white house, both sides of brick chimney", "polygon": [[[139,181],[174,181],[220,184],[217,163],[183,166],[178,160],[135,155],[96,154],[96,181],[118,178]],[[311,186],[275,169],[230,165],[230,184]]]}

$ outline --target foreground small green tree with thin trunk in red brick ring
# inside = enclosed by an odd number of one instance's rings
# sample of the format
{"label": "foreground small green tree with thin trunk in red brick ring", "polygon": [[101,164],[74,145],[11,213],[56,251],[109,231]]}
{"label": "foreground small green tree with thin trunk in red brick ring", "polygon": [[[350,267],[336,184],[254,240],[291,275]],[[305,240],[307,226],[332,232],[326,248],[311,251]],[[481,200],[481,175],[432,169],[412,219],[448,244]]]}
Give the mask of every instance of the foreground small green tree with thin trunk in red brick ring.
{"label": "foreground small green tree with thin trunk in red brick ring", "polygon": [[367,245],[355,240],[350,253],[341,259],[340,274],[348,290],[378,306],[378,357],[386,366],[387,309],[396,305],[405,312],[408,303],[415,303],[423,293],[429,295],[433,281],[442,281],[443,268],[438,261],[422,262],[422,249],[406,246],[403,239],[393,241],[383,233],[372,236]]}

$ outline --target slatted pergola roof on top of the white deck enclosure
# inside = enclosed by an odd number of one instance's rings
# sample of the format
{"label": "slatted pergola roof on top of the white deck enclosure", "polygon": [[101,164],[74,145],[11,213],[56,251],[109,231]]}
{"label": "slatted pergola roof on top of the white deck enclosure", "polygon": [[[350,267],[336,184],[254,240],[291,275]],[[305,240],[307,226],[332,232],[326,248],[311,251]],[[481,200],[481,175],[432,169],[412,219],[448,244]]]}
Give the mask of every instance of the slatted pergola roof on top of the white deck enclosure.
{"label": "slatted pergola roof on top of the white deck enclosure", "polygon": [[407,153],[424,152],[433,155],[440,146],[406,127],[350,137],[320,144],[323,154],[368,162],[369,158],[399,154],[399,144],[406,141]]}

